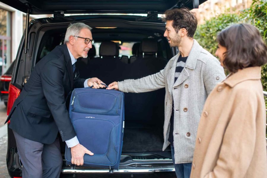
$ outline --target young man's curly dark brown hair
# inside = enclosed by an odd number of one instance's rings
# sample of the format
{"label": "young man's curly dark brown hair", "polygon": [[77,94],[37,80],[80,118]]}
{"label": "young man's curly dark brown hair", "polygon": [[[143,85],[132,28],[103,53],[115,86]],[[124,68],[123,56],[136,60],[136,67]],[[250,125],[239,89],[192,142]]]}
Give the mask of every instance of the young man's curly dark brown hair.
{"label": "young man's curly dark brown hair", "polygon": [[198,26],[198,19],[195,12],[190,12],[187,8],[166,10],[165,17],[162,18],[164,22],[173,20],[172,26],[178,33],[179,29],[185,28],[187,36],[194,37],[196,28]]}

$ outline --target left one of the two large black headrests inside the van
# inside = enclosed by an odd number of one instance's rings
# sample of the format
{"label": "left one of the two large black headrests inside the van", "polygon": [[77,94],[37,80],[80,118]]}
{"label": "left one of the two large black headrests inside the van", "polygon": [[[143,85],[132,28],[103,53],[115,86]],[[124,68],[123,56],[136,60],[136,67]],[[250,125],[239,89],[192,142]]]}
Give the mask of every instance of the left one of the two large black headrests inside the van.
{"label": "left one of the two large black headrests inside the van", "polygon": [[99,47],[100,56],[119,56],[119,48],[115,42],[102,42]]}

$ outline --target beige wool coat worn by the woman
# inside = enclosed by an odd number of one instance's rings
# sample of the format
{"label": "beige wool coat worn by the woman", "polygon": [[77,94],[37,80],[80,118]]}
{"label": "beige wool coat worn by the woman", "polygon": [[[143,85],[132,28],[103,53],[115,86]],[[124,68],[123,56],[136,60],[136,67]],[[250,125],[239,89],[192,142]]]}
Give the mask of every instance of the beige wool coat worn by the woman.
{"label": "beige wool coat worn by the woman", "polygon": [[260,67],[229,75],[209,94],[191,178],[267,177],[266,111]]}

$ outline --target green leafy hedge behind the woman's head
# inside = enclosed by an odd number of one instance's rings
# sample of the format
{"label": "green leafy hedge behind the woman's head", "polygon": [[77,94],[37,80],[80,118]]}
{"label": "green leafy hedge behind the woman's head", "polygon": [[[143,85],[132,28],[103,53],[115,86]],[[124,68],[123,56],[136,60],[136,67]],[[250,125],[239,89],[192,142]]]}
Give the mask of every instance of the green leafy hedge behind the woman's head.
{"label": "green leafy hedge behind the woman's head", "polygon": [[[234,23],[250,23],[260,31],[263,39],[267,43],[267,1],[253,0],[252,5],[238,14],[224,13],[217,17],[206,20],[205,24],[199,25],[194,38],[199,44],[215,55],[217,33]],[[226,71],[226,74],[228,72]],[[267,91],[267,65],[262,67],[263,90]],[[267,106],[267,102],[266,102]]]}

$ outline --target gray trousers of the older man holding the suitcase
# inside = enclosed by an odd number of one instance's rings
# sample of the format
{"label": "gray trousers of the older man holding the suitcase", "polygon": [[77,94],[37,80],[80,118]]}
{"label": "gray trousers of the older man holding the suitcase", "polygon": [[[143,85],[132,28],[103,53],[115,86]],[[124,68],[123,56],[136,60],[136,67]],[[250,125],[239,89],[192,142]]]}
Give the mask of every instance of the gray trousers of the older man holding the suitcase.
{"label": "gray trousers of the older man holding the suitcase", "polygon": [[52,144],[35,142],[13,131],[22,162],[23,178],[56,178],[62,167],[59,139]]}

